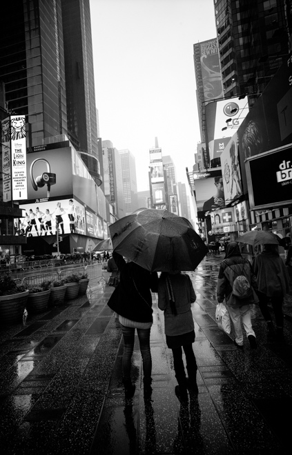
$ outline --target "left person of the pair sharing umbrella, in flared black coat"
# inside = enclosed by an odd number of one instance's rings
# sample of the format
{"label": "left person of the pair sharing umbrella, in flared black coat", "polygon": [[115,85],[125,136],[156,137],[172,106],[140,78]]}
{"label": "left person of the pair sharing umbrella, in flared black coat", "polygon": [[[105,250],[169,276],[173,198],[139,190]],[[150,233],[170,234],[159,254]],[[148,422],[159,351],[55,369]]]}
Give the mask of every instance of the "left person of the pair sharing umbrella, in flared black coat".
{"label": "left person of the pair sharing umbrella, in flared black coat", "polygon": [[148,272],[134,262],[126,263],[123,256],[116,252],[113,252],[113,259],[120,272],[120,282],[110,296],[108,306],[119,315],[119,323],[124,338],[122,374],[125,394],[126,397],[130,397],[135,393],[135,385],[132,383],[130,370],[135,330],[137,330],[143,361],[144,394],[150,396],[152,392],[150,328],[153,323],[150,290],[157,292],[157,272]]}

